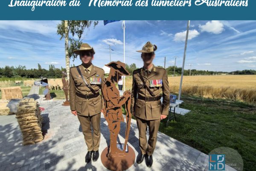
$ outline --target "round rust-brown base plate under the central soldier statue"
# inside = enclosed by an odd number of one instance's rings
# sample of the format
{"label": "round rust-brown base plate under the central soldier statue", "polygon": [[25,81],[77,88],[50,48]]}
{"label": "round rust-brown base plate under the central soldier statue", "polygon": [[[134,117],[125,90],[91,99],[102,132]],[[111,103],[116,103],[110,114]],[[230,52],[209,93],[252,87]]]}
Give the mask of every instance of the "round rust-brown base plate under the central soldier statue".
{"label": "round rust-brown base plate under the central soldier statue", "polygon": [[135,152],[128,146],[128,152],[124,157],[115,157],[114,160],[108,160],[108,149],[106,147],[101,154],[102,164],[111,171],[123,171],[130,168],[135,161]]}

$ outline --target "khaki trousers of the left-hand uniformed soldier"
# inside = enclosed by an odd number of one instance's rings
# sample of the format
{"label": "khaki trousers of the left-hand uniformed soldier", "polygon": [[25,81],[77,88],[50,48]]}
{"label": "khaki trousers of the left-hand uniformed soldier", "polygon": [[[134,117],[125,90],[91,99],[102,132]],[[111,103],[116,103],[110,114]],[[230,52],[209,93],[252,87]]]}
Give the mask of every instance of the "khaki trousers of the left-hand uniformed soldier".
{"label": "khaki trousers of the left-hand uniformed soldier", "polygon": [[[93,116],[81,116],[77,115],[82,131],[84,134],[84,140],[87,145],[88,151],[99,150],[100,143],[100,113]],[[93,128],[93,134],[91,130]]]}

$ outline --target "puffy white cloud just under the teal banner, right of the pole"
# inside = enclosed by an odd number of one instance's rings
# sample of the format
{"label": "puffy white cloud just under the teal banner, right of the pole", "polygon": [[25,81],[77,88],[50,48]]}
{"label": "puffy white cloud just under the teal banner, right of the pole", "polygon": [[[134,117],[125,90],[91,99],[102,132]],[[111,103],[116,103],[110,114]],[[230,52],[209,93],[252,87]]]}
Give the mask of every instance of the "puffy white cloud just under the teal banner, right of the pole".
{"label": "puffy white cloud just under the teal banner, right of the pole", "polygon": [[208,21],[205,25],[199,25],[201,32],[208,32],[213,34],[220,34],[224,31],[224,24],[220,21]]}

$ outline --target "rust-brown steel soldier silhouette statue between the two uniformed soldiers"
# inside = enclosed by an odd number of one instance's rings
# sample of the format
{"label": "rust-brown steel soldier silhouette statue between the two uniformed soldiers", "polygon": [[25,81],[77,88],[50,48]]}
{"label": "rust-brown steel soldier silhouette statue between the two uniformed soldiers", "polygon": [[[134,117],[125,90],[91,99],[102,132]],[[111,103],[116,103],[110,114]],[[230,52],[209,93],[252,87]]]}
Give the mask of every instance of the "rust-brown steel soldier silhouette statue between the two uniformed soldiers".
{"label": "rust-brown steel soldier silhouette statue between the two uniformed soldiers", "polygon": [[[125,157],[126,145],[131,126],[131,92],[125,91],[123,96],[119,95],[119,90],[116,88],[119,76],[129,76],[130,73],[125,69],[125,63],[120,61],[110,62],[106,64],[110,67],[110,73],[103,87],[103,97],[105,101],[105,109],[103,109],[104,117],[108,122],[110,132],[110,148],[108,152],[108,160],[114,160],[116,157]],[[122,105],[125,104],[126,110],[126,130],[125,144],[121,151],[117,148],[117,136],[120,131],[120,123],[124,122],[122,115]]]}

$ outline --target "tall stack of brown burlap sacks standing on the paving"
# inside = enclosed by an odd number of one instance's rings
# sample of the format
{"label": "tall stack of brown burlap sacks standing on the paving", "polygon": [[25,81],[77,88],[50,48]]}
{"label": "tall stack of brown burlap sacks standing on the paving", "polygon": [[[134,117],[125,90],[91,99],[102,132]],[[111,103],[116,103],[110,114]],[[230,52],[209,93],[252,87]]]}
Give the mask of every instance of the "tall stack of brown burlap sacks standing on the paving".
{"label": "tall stack of brown burlap sacks standing on the paving", "polygon": [[44,140],[42,121],[38,103],[33,98],[25,98],[17,107],[16,118],[23,137],[23,145],[35,144]]}

